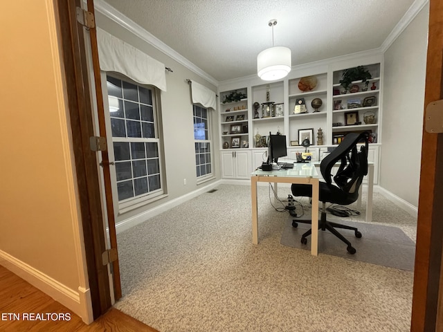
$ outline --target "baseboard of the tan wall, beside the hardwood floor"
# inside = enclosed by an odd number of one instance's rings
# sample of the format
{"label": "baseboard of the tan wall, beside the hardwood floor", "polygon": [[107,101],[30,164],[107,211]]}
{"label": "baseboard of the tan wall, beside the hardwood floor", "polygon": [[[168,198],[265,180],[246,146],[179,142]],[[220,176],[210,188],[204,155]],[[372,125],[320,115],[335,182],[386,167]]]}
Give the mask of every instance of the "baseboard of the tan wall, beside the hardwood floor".
{"label": "baseboard of the tan wall, beside the hardwood floor", "polygon": [[0,265],[69,308],[79,315],[86,324],[93,322],[89,288],[79,287],[78,291],[74,291],[2,250],[0,250]]}

